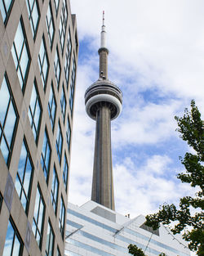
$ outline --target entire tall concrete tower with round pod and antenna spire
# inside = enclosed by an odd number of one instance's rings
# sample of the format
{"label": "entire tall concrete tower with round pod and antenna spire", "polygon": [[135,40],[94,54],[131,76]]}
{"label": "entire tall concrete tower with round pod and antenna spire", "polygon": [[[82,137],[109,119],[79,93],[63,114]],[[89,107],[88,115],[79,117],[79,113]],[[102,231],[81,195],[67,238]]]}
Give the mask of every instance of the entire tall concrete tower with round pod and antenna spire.
{"label": "entire tall concrete tower with round pod and antenna spire", "polygon": [[100,78],[85,92],[86,113],[96,121],[95,155],[91,200],[109,209],[115,209],[113,194],[113,167],[111,151],[111,121],[122,111],[122,92],[108,79],[108,55],[106,32],[100,33]]}

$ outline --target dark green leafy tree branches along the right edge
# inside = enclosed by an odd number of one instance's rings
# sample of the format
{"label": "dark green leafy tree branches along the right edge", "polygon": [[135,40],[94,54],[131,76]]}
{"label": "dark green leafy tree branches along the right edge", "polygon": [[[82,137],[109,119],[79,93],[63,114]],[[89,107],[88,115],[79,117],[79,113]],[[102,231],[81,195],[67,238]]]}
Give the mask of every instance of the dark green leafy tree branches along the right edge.
{"label": "dark green leafy tree branches along the right edge", "polygon": [[[191,111],[184,110],[184,117],[175,116],[178,123],[180,137],[187,141],[193,148],[193,153],[186,153],[184,159],[180,157],[181,163],[186,169],[185,173],[179,173],[177,177],[181,182],[189,183],[197,188],[194,197],[185,196],[180,199],[180,207],[175,204],[163,204],[158,213],[146,216],[146,225],[156,230],[160,223],[168,225],[176,222],[171,228],[173,234],[184,231],[183,238],[188,241],[188,248],[197,252],[197,255],[204,255],[204,126],[201,114],[195,106],[195,101],[191,101]],[[191,209],[196,209],[192,213]],[[188,230],[188,227],[190,229]],[[137,255],[137,254],[135,254]]]}

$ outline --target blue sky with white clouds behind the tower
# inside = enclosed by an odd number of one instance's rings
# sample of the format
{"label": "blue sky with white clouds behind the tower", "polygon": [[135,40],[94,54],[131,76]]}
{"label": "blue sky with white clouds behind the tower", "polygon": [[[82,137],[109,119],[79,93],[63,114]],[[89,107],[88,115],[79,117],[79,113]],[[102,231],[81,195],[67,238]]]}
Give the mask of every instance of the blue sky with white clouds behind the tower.
{"label": "blue sky with white clouds behind the tower", "polygon": [[157,212],[194,191],[176,174],[188,148],[175,115],[194,99],[204,119],[204,1],[71,0],[77,15],[79,59],[69,201],[91,200],[95,121],[84,92],[99,78],[100,29],[105,12],[109,79],[122,90],[122,114],[112,122],[116,211]]}

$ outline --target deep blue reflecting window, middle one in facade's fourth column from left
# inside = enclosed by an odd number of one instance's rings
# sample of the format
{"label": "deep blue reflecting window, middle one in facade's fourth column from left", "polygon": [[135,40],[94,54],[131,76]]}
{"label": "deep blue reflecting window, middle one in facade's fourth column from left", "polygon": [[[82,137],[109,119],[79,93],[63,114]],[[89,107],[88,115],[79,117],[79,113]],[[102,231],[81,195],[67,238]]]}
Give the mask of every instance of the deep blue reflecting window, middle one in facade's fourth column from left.
{"label": "deep blue reflecting window, middle one in facade's fourth column from left", "polygon": [[47,129],[46,129],[43,145],[42,145],[41,164],[42,164],[42,171],[45,175],[47,182],[48,182],[48,176],[50,171],[50,162],[51,162],[51,144],[47,136]]}

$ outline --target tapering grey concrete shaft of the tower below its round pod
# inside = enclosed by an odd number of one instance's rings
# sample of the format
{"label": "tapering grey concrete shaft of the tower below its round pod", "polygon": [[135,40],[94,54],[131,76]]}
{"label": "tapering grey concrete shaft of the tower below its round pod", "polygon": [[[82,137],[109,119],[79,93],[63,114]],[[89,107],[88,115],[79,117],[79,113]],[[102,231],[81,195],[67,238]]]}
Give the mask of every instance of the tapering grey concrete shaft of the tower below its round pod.
{"label": "tapering grey concrete shaft of the tower below its round pod", "polygon": [[95,156],[91,200],[115,209],[109,103],[99,104],[96,112]]}

